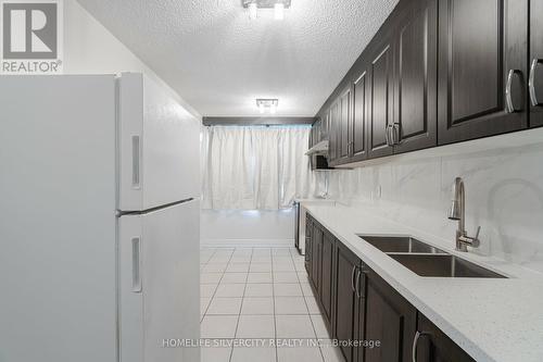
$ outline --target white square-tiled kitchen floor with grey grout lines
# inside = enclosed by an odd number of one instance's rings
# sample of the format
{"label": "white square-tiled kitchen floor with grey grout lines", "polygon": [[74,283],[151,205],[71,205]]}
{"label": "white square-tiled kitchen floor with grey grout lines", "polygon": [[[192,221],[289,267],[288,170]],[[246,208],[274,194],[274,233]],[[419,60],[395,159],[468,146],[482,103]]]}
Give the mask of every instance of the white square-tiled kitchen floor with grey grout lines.
{"label": "white square-tiled kitchen floor with grey grout lines", "polygon": [[200,263],[202,338],[222,342],[202,362],[342,362],[294,248],[202,248]]}

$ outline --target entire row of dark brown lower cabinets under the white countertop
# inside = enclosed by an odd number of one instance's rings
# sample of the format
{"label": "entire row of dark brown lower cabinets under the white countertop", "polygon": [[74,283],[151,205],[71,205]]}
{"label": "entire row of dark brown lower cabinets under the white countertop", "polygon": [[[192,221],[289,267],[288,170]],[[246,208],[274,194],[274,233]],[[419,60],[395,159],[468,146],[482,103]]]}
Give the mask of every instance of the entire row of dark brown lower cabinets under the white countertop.
{"label": "entire row of dark brown lower cabinets under the white countertop", "polygon": [[306,270],[344,361],[473,361],[310,215],[305,233]]}

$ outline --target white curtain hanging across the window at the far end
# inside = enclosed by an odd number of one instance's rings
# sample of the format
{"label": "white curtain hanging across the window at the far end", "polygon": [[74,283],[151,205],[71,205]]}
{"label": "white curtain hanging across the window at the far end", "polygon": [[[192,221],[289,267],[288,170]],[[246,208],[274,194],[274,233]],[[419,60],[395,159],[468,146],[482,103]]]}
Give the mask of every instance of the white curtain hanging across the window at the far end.
{"label": "white curtain hanging across the window at the far end", "polygon": [[316,192],[305,155],[308,126],[214,126],[202,129],[202,207],[278,210]]}

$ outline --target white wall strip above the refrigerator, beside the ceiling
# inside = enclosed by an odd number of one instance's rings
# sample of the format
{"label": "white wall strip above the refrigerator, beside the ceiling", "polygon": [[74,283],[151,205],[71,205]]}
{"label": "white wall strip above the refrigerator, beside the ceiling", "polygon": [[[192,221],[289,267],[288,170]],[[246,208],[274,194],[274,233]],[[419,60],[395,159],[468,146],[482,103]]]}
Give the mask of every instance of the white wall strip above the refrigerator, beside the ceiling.
{"label": "white wall strip above the refrigerator, beside the ceiling", "polygon": [[64,73],[144,73],[162,85],[188,111],[200,117],[190,104],[136,57],[124,43],[92,17],[77,1],[64,1]]}

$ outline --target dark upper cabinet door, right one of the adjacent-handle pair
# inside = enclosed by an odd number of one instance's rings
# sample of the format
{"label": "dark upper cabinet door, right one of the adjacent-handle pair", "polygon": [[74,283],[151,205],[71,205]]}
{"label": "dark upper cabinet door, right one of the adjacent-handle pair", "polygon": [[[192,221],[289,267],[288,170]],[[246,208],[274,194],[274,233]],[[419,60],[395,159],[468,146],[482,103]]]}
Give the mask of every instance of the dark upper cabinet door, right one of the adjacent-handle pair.
{"label": "dark upper cabinet door, right one of the adjacent-handle pair", "polygon": [[435,0],[415,1],[397,24],[395,50],[394,153],[437,146]]}

